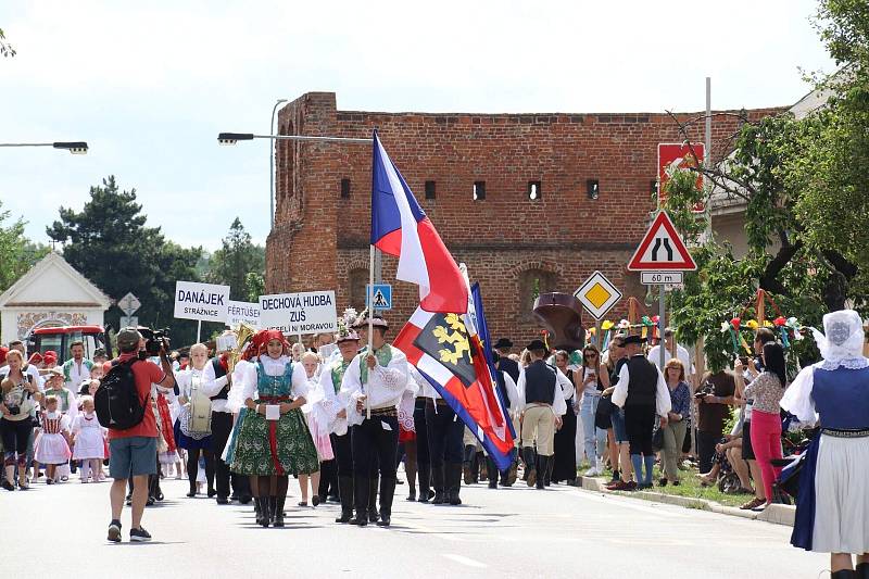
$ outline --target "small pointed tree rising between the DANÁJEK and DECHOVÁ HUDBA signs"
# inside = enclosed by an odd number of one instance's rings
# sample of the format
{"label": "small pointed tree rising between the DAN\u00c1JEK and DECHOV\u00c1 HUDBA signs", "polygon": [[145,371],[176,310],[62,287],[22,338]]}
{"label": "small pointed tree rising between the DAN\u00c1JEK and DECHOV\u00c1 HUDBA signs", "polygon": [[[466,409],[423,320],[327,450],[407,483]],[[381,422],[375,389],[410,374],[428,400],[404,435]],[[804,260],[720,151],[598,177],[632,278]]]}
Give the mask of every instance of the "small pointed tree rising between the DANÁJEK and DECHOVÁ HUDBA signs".
{"label": "small pointed tree rising between the DAN\u00c1JEK and DECHOV\u00c1 HUDBA signs", "polygon": [[229,286],[232,300],[247,300],[250,293],[247,276],[250,273],[263,276],[265,249],[253,243],[241,219],[236,217],[229,226],[229,234],[223,238],[223,247],[211,255],[209,266],[210,281]]}

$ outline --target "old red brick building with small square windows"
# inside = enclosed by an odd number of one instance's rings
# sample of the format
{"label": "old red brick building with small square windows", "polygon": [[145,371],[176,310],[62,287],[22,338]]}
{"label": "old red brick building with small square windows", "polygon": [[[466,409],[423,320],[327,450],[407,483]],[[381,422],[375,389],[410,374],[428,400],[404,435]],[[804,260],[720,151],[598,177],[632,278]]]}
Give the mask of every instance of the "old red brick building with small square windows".
{"label": "old red brick building with small square windows", "polygon": [[[703,123],[696,126],[702,140]],[[626,265],[654,210],[657,143],[681,140],[668,115],[339,111],[332,92],[306,93],[278,115],[281,135],[369,137],[374,128],[453,256],[480,282],[493,338],[529,340],[539,331],[530,315],[534,288],[572,293],[594,269],[626,297],[644,297]],[[713,142],[736,129],[734,116],[716,116]],[[722,152],[713,147],[714,159]],[[371,148],[278,141],[276,165],[266,290],[335,289],[339,312],[361,310]],[[382,273],[393,284],[387,317],[398,328],[418,294],[395,281],[395,263],[385,256]],[[624,316],[626,304],[609,317]]]}

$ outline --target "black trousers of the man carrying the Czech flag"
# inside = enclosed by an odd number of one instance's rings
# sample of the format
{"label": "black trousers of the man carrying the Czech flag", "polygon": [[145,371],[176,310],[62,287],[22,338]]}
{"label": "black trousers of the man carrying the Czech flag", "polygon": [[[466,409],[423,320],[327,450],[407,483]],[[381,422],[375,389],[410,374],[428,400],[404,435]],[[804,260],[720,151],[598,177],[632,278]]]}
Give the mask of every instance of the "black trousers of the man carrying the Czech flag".
{"label": "black trousers of the man carrying the Czech flag", "polygon": [[[383,428],[383,424],[390,429]],[[381,479],[395,480],[395,456],[399,452],[398,417],[371,416],[362,424],[354,425],[351,444],[354,475],[374,477],[379,466]]]}

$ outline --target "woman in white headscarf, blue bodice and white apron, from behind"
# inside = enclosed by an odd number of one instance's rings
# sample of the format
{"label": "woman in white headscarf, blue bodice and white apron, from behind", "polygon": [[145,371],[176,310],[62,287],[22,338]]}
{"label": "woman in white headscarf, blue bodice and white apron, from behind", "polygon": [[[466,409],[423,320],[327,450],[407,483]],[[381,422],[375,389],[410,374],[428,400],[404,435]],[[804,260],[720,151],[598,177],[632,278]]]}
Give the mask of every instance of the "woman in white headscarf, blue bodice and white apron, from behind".
{"label": "woman in white headscarf, blue bodice and white apron, from behind", "polygon": [[[794,546],[831,554],[833,579],[869,578],[869,358],[862,320],[843,310],[814,330],[823,360],[804,368],[781,407],[820,433],[799,474]],[[856,571],[851,555],[857,555]]]}

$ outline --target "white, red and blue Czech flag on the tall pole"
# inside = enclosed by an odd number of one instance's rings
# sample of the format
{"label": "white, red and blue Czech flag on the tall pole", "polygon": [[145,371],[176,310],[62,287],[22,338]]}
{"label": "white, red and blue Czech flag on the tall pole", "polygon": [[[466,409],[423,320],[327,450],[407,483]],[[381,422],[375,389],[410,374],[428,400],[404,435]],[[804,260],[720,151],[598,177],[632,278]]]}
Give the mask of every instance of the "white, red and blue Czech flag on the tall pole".
{"label": "white, red and blue Czech flag on the tall pole", "polygon": [[395,277],[419,286],[427,312],[467,312],[468,288],[450,251],[389,159],[377,131],[371,166],[371,244],[399,259]]}

